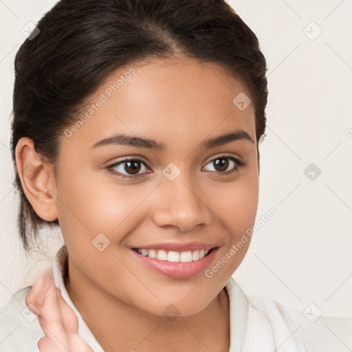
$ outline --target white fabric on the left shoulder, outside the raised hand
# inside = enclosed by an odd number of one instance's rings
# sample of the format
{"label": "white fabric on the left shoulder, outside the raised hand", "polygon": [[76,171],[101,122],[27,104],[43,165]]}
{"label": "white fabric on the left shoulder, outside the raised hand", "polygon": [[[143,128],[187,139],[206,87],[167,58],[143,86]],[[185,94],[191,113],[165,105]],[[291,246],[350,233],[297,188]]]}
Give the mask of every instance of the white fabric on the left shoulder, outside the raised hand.
{"label": "white fabric on the left shoulder, outside the raised hand", "polygon": [[30,289],[20,289],[0,309],[0,352],[39,352],[37,342],[44,333],[37,316],[25,305]]}

